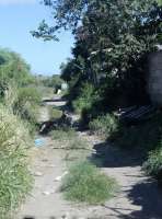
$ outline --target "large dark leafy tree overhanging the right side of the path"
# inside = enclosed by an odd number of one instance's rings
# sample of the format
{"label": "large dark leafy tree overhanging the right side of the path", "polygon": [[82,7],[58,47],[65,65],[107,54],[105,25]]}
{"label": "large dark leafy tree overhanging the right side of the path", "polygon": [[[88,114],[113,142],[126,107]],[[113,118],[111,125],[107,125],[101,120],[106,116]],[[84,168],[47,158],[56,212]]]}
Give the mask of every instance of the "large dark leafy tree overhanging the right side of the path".
{"label": "large dark leafy tree overhanging the right side of the path", "polygon": [[44,21],[33,35],[56,39],[60,30],[72,31],[73,58],[62,70],[71,88],[80,90],[89,82],[108,97],[141,96],[146,55],[155,50],[161,41],[160,4],[152,0],[44,0],[44,3],[51,8],[55,25],[48,26]]}

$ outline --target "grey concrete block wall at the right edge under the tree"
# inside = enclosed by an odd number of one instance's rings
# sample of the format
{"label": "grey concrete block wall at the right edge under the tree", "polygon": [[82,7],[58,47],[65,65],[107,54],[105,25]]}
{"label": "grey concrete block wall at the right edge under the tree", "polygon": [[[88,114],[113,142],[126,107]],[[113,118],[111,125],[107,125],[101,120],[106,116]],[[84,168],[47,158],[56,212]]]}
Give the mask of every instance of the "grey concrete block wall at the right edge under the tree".
{"label": "grey concrete block wall at the right edge under the tree", "polygon": [[162,106],[162,50],[149,57],[148,90],[152,102]]}

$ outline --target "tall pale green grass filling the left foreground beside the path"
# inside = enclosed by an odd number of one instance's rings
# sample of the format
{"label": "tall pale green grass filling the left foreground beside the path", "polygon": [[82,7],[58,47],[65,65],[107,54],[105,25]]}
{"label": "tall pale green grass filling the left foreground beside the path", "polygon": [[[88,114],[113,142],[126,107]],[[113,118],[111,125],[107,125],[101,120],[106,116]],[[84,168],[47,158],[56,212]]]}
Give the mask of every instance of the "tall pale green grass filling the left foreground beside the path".
{"label": "tall pale green grass filling the left foreground beside the path", "polygon": [[0,216],[7,218],[24,200],[32,186],[27,169],[27,129],[7,107],[0,106]]}

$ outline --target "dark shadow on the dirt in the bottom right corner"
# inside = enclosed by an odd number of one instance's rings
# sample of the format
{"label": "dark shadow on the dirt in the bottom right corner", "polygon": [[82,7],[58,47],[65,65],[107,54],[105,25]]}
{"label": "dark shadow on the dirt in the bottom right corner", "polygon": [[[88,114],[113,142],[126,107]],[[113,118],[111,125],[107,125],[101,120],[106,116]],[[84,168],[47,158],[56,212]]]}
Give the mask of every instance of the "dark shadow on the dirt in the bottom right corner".
{"label": "dark shadow on the dirt in the bottom right corner", "polygon": [[134,210],[121,219],[161,219],[162,218],[162,189],[155,181],[144,181],[136,184],[127,194],[132,205],[141,206],[141,210]]}

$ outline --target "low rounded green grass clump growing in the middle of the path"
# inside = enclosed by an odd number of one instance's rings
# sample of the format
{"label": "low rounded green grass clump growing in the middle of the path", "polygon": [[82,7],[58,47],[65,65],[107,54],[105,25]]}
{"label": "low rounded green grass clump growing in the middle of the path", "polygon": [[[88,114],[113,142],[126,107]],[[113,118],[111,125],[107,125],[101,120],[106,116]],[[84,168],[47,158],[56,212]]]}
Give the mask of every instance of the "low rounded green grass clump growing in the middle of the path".
{"label": "low rounded green grass clump growing in the middle of the path", "polygon": [[80,162],[70,168],[61,192],[68,200],[103,204],[113,197],[116,185],[114,178],[101,173],[91,163]]}

